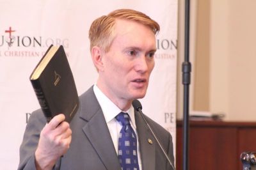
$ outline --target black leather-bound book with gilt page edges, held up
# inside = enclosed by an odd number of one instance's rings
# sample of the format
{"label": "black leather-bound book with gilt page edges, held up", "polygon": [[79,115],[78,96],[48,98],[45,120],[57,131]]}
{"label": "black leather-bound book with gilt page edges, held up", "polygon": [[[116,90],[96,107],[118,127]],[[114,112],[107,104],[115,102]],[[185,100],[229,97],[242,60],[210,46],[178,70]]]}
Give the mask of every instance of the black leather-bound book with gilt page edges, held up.
{"label": "black leather-bound book with gilt page edges, held up", "polygon": [[30,81],[47,122],[63,113],[70,123],[79,107],[79,98],[62,45],[49,47],[31,73]]}

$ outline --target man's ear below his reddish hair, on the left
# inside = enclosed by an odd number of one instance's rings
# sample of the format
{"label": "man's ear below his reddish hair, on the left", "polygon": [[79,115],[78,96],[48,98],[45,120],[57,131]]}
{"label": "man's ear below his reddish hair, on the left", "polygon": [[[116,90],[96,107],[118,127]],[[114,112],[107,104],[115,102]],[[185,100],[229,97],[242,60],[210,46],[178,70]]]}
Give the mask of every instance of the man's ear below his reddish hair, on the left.
{"label": "man's ear below his reddish hair, on the left", "polygon": [[98,72],[104,71],[104,64],[102,62],[104,52],[100,47],[94,46],[92,47],[92,61],[95,67],[97,68]]}

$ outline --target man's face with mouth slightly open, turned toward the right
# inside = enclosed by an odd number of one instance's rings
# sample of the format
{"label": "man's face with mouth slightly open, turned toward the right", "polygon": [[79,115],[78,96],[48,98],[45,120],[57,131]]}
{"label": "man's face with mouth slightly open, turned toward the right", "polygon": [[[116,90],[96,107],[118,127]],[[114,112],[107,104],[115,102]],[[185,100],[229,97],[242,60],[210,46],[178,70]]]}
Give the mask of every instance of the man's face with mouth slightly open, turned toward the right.
{"label": "man's face with mouth slightly open, turned toward the right", "polygon": [[156,37],[150,28],[117,19],[115,39],[102,56],[101,90],[113,102],[145,97],[155,52]]}

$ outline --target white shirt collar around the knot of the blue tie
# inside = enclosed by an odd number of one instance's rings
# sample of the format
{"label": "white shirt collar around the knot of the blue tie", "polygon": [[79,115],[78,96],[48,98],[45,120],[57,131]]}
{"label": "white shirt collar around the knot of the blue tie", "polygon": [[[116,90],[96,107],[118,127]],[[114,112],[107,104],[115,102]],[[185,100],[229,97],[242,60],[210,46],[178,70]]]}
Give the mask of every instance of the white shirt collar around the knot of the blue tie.
{"label": "white shirt collar around the knot of the blue tie", "polygon": [[136,127],[134,109],[132,108],[132,106],[127,111],[121,111],[108,97],[106,97],[106,95],[104,95],[104,93],[102,93],[102,91],[96,84],[94,84],[93,86],[93,91],[100,104],[100,107],[104,114],[104,118],[107,123],[115,119],[115,116],[117,116],[117,114],[119,114],[120,112],[127,112],[130,116],[132,125]]}

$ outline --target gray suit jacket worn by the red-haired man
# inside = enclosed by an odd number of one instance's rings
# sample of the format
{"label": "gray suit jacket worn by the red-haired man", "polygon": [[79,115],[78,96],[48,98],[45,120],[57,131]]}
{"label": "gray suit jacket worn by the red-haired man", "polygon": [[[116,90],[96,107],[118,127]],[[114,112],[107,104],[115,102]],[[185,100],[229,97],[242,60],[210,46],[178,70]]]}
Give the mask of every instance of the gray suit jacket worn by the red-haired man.
{"label": "gray suit jacket worn by the red-haired man", "polygon": [[[58,160],[54,169],[121,169],[108,126],[93,88],[88,89],[79,97],[79,100],[79,110],[70,123],[72,129],[70,148]],[[146,119],[173,163],[172,136],[147,116]],[[138,112],[135,112],[135,120],[143,169],[172,169]],[[35,150],[45,123],[45,117],[41,110],[31,114],[20,146],[18,169],[35,169]],[[148,143],[148,139],[151,139],[153,144]]]}

